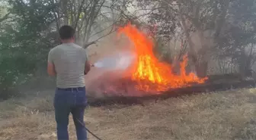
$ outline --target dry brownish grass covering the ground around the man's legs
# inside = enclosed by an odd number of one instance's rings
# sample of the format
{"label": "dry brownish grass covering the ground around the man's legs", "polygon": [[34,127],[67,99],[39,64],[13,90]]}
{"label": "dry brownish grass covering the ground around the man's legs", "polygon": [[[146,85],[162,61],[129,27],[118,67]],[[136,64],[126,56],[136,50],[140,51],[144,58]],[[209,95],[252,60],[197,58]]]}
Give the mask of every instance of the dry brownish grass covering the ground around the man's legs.
{"label": "dry brownish grass covering the ground around the man's legs", "polygon": [[[255,115],[256,90],[241,89],[146,106],[88,107],[85,122],[104,140],[252,140],[256,139]],[[70,139],[75,140],[72,118],[70,123]],[[52,140],[55,127],[49,95],[0,103],[1,140]]]}

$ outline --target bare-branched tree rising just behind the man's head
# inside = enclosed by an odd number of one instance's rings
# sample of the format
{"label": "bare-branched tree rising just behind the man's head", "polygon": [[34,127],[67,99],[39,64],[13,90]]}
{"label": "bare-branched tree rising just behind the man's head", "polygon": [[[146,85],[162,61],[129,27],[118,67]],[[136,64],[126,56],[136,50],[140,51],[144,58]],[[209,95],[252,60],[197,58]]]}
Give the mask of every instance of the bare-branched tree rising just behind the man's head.
{"label": "bare-branched tree rising just behind the man's head", "polygon": [[54,12],[56,29],[66,24],[76,30],[76,40],[87,48],[104,36],[114,32],[114,24],[120,20],[121,9],[117,1],[107,0],[51,0],[59,5]]}

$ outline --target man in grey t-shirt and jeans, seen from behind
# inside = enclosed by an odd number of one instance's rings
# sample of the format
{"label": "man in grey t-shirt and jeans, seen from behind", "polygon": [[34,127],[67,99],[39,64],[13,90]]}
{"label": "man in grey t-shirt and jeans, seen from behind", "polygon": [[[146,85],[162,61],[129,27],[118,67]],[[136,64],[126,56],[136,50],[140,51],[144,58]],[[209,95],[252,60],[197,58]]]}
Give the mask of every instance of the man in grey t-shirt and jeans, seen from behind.
{"label": "man in grey t-shirt and jeans, seen from behind", "polygon": [[72,114],[78,140],[87,140],[84,124],[85,98],[84,75],[90,70],[84,48],[75,45],[75,30],[62,26],[59,36],[62,44],[52,48],[48,55],[47,72],[56,76],[54,97],[58,140],[69,140],[69,114]]}

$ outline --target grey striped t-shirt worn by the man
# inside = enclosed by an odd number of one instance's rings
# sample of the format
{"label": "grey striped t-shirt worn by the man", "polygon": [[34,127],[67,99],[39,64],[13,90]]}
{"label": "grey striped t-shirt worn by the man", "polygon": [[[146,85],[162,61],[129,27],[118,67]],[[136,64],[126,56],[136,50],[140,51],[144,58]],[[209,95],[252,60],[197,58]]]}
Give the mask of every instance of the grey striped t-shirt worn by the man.
{"label": "grey striped t-shirt worn by the man", "polygon": [[55,66],[56,86],[62,89],[85,86],[86,60],[85,49],[74,43],[63,43],[52,48],[48,55],[48,62]]}

